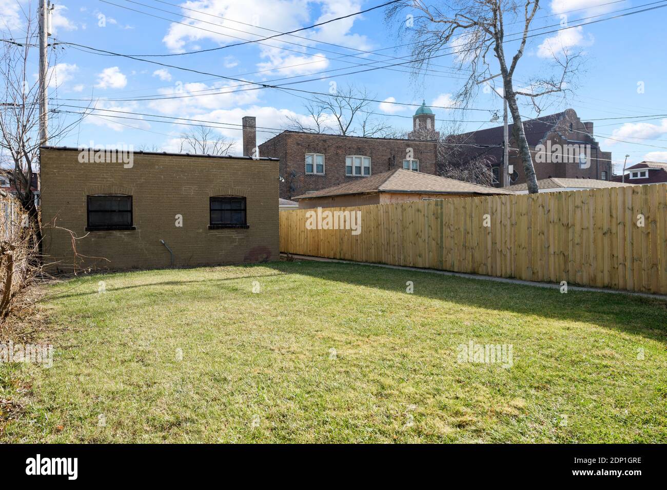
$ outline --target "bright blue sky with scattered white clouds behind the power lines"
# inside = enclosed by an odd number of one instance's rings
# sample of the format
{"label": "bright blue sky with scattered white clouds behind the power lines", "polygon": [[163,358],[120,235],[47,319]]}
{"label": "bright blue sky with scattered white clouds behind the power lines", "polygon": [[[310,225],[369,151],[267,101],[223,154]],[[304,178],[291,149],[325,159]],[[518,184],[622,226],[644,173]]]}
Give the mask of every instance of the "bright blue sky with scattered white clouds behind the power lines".
{"label": "bright blue sky with scattered white clouds behind the power lines", "polygon": [[[109,2],[117,5],[111,5]],[[133,2],[109,0],[109,2],[101,0],[57,2],[54,16],[55,39],[129,55],[174,54],[219,47],[243,39],[258,39],[260,35],[273,34],[265,29],[280,32],[299,29],[382,3],[380,0],[201,0],[187,3],[177,0]],[[0,24],[13,26],[13,32],[18,32],[16,27],[20,27],[21,23],[17,10],[19,3],[24,8],[29,4],[23,0],[20,2],[0,0],[0,11],[3,12]],[[600,6],[603,3],[608,3],[608,0],[544,1],[538,12],[539,18],[534,21],[533,27],[558,24],[562,21],[563,13],[569,23],[576,23],[577,19],[583,17],[598,14],[605,14],[602,17],[607,17],[622,9],[639,8],[640,5],[648,3],[651,5],[647,6],[652,7],[665,2],[634,0]],[[179,6],[193,10],[181,9]],[[31,7],[35,7],[35,0]],[[225,17],[227,20],[220,17]],[[530,39],[524,59],[520,61],[515,87],[520,87],[520,81],[530,79],[534,75],[550,73],[547,49],[549,46],[565,46],[567,49],[580,51],[584,69],[575,79],[576,83],[572,87],[574,95],[569,95],[566,101],[559,96],[545,98],[543,102],[548,104],[542,115],[572,107],[582,119],[594,120],[596,138],[602,143],[602,149],[612,151],[617,168],[622,165],[626,153],[630,155],[628,165],[642,159],[667,161],[667,117],[650,117],[667,114],[667,91],[664,83],[667,79],[667,65],[664,62],[665,45],[667,45],[664,29],[666,20],[667,8],[656,9],[534,37]],[[195,27],[191,27],[193,25]],[[516,26],[514,28],[516,29]],[[354,49],[371,51],[410,41],[397,37],[394,25],[385,23],[384,9],[302,31],[297,35],[308,39],[281,37],[280,39],[291,43],[271,39],[264,41],[264,45],[249,43],[208,53],[147,59],[252,81],[302,75],[301,78],[292,78],[288,81],[313,78],[315,80],[290,86],[316,92],[329,91],[332,81],[342,85],[352,83],[357,87],[365,87],[379,101],[421,103],[422,99],[426,99],[428,104],[450,105],[452,95],[458,91],[462,83],[460,79],[462,75],[451,68],[456,65],[453,55],[438,59],[436,63],[440,66],[433,67],[438,73],[428,76],[415,78],[410,73],[386,69],[344,75],[359,69],[355,68],[353,63],[369,63],[370,59],[387,59],[380,55],[367,56]],[[229,36],[242,39],[233,39]],[[327,45],[321,41],[338,46]],[[509,45],[506,50],[512,52],[513,47],[514,45]],[[382,53],[390,57],[407,54],[404,49],[388,49]],[[342,55],[358,57],[342,57]],[[36,60],[33,62],[36,72]],[[285,127],[287,116],[303,115],[302,97],[308,97],[305,93],[289,93],[275,89],[245,90],[206,97],[180,97],[189,95],[193,91],[225,90],[224,87],[239,83],[123,57],[86,53],[74,47],[59,49],[53,65],[55,65],[55,75],[52,77],[49,95],[54,103],[83,107],[91,105],[115,111],[187,117],[232,124],[240,124],[243,115],[254,115],[257,117],[258,127],[271,128],[258,133],[260,142]],[[341,70],[313,75],[315,72],[331,69]],[[406,67],[400,69],[408,71]],[[492,65],[492,71],[494,69],[497,70],[497,65]],[[321,78],[323,76],[327,78]],[[127,100],[150,96],[180,98],[153,101]],[[434,109],[434,112],[439,121],[444,119],[462,121],[461,129],[472,131],[496,124],[488,121],[492,111],[497,110],[502,114],[502,100],[493,93],[480,90],[468,108],[482,110]],[[81,110],[75,107],[62,107],[62,109]],[[414,109],[414,107],[373,103],[371,110],[378,113],[376,116],[378,119],[386,119],[387,123],[397,129],[409,130],[411,125],[409,117]],[[535,112],[530,105],[524,105],[522,114],[532,117]],[[643,121],[643,117],[630,119],[637,116],[647,116],[646,119],[650,120]],[[86,117],[63,141],[55,143],[77,146],[88,145],[93,141],[96,146],[134,145],[136,148],[139,145],[155,145],[166,150],[176,150],[180,133],[189,129],[187,126],[170,122],[148,121],[147,119],[155,119],[151,116],[129,115],[129,117],[136,117],[139,120]],[[610,117],[625,119],[606,119]],[[446,130],[446,126],[442,129]],[[229,139],[240,140],[238,127],[230,126],[221,129],[221,132]],[[235,153],[239,151],[237,145]]]}

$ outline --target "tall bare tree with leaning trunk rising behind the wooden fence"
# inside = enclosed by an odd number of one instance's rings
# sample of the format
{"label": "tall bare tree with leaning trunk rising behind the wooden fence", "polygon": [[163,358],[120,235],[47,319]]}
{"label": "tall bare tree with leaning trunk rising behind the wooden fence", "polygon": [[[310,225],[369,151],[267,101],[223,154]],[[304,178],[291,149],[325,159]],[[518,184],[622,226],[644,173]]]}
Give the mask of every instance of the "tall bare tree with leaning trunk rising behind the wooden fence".
{"label": "tall bare tree with leaning trunk rising behind the wooden fence", "polygon": [[[440,2],[433,2],[440,3]],[[402,33],[411,33],[414,38],[412,58],[414,70],[428,68],[430,59],[442,52],[442,49],[454,47],[458,55],[460,71],[465,71],[467,79],[456,99],[462,107],[468,104],[477,93],[478,86],[485,79],[494,77],[500,71],[504,97],[512,115],[514,125],[512,135],[518,145],[524,165],[524,173],[530,193],[538,192],[530,147],[526,140],[522,116],[517,103],[517,96],[530,99],[530,103],[538,107],[538,99],[550,93],[564,92],[566,81],[576,71],[572,55],[567,49],[554,53],[558,74],[554,77],[538,77],[530,81],[528,88],[514,89],[514,73],[519,60],[524,54],[528,31],[540,0],[454,0],[448,5],[427,5],[422,0],[404,0],[388,7],[388,20],[396,19],[402,23]],[[405,29],[404,11],[416,12],[412,18],[412,28]],[[506,39],[506,25],[521,25],[521,32]],[[514,54],[506,56],[505,45],[508,40],[518,41]],[[493,52],[496,59],[492,69]],[[508,58],[508,56],[510,56]],[[494,73],[495,72],[495,73]],[[497,76],[497,75],[496,75]]]}

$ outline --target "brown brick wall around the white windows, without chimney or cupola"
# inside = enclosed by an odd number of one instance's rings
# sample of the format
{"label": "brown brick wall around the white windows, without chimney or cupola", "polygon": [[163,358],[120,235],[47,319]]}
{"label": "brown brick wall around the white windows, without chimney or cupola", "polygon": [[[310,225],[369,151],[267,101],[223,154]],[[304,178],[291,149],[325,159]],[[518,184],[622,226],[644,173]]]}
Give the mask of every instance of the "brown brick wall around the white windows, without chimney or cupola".
{"label": "brown brick wall around the white windows, without chimney or cupola", "polygon": [[[436,143],[410,139],[362,138],[283,131],[259,145],[261,157],[280,159],[280,197],[290,199],[307,191],[326,189],[333,185],[364,177],[345,175],[345,157],[371,157],[372,174],[403,167],[406,151],[412,148],[413,158],[420,161],[420,172],[436,175]],[[325,175],[306,175],[305,154],[324,155]],[[292,171],[296,174],[292,176]]]}

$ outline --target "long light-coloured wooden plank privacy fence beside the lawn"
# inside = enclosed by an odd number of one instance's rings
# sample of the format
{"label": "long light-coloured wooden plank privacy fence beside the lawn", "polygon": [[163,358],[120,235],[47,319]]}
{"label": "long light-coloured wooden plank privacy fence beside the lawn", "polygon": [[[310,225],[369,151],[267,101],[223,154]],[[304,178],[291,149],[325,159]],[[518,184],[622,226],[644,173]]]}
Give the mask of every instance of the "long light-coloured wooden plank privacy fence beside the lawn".
{"label": "long light-coloured wooden plank privacy fence beside the lawn", "polygon": [[282,211],[280,251],[667,293],[665,184],[325,211],[360,211],[360,233],[308,229],[317,209]]}

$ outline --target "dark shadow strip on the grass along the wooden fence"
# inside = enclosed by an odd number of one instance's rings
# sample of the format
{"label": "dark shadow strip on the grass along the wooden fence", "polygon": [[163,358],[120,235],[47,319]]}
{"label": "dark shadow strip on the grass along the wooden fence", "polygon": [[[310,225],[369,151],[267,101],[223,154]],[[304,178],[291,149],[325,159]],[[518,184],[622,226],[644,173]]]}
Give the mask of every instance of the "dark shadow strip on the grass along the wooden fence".
{"label": "dark shadow strip on the grass along the wooden fence", "polygon": [[667,343],[667,302],[660,299],[572,289],[562,294],[560,289],[365,264],[285,261],[268,267],[283,273],[398,293],[406,293],[406,282],[413,281],[416,296],[521,315],[593,323]]}

